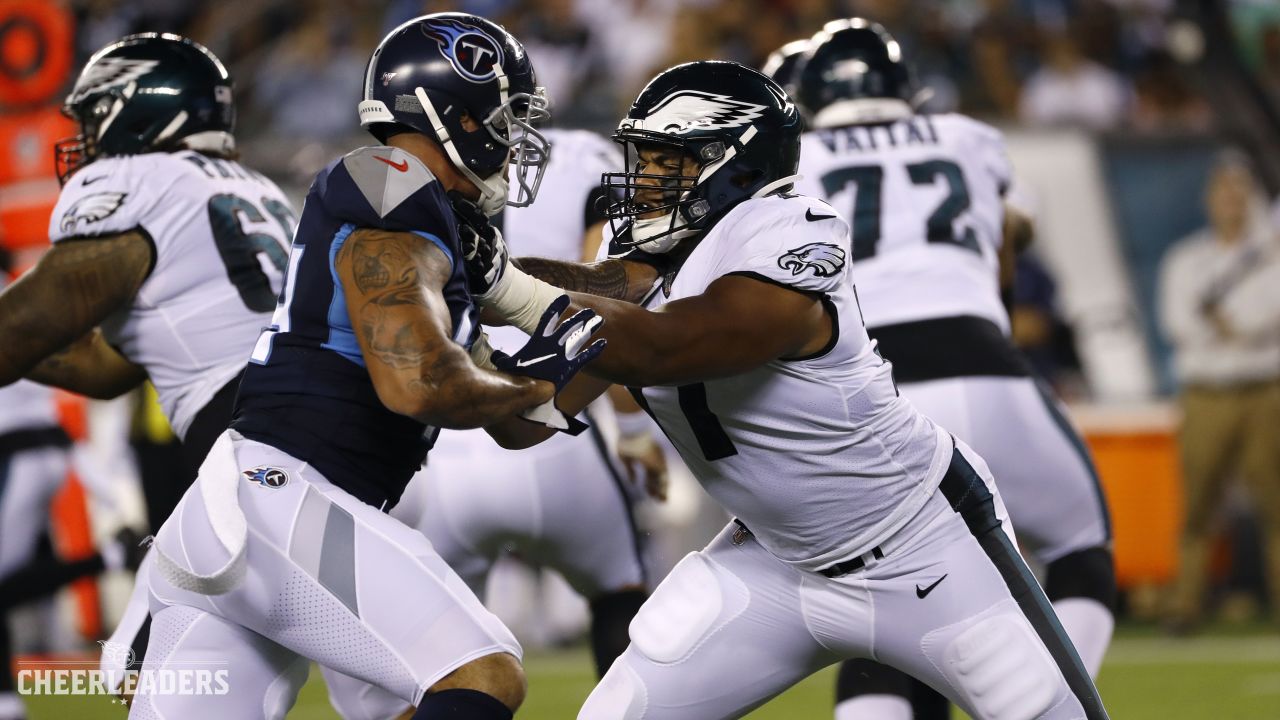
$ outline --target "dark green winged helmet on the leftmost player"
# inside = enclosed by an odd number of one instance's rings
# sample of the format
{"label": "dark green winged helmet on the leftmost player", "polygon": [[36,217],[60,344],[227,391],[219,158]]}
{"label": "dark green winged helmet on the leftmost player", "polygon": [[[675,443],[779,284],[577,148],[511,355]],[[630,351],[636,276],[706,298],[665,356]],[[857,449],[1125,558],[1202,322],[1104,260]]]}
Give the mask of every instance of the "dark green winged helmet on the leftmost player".
{"label": "dark green winged helmet on the leftmost player", "polygon": [[227,68],[178,35],[131,35],[95,53],[63,114],[79,124],[79,135],[54,146],[64,183],[97,158],[184,147],[229,155],[236,149]]}

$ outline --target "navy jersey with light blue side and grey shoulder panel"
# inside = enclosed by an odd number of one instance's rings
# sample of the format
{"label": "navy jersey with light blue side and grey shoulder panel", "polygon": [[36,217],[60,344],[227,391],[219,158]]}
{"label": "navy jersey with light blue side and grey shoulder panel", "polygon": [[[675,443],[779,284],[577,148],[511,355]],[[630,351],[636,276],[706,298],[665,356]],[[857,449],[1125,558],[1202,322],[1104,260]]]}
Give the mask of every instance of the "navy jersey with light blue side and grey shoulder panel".
{"label": "navy jersey with light blue side and grey shoulder panel", "polygon": [[311,464],[360,500],[390,507],[438,430],[392,413],[374,391],[334,268],[360,228],[410,232],[449,258],[443,295],[453,340],[471,346],[479,309],[444,188],[402,150],[361,147],[325,168],[307,192],[284,290],[244,372],[232,428]]}

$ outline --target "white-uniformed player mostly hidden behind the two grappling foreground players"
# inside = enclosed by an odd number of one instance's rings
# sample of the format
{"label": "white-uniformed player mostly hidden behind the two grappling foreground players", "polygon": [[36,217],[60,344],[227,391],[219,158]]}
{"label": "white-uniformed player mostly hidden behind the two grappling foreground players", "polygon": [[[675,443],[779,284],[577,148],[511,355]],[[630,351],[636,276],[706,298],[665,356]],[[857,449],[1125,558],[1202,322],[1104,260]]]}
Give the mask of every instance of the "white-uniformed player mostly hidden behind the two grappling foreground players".
{"label": "white-uniformed player mostly hidden behind the two grappling foreground players", "polygon": [[[622,159],[595,133],[545,129],[543,135],[554,151],[538,201],[503,210],[503,240],[529,255],[594,258],[605,225],[600,174]],[[515,351],[529,340],[512,327],[486,332],[498,350]],[[480,598],[489,571],[508,547],[522,560],[559,571],[590,603],[591,651],[603,675],[626,650],[627,625],[648,588],[632,496],[600,427],[612,413],[593,404],[588,414],[588,432],[557,433],[518,452],[494,447],[481,430],[442,432],[426,468],[392,516],[421,530]],[[640,451],[627,456],[645,459],[644,439],[649,439],[660,460],[648,416],[639,407],[635,414],[623,423],[631,430],[625,438]],[[344,717],[397,717],[404,710],[396,696],[338,673],[325,670],[325,684]]]}

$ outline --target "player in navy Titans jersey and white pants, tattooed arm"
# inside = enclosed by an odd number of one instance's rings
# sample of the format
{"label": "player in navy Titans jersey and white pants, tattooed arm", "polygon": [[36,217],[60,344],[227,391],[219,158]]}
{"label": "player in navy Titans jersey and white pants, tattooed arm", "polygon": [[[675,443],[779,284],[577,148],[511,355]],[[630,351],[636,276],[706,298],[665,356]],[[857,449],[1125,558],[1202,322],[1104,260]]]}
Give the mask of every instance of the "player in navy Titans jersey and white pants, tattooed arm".
{"label": "player in navy Titans jersey and white pants, tattooed arm", "polygon": [[452,205],[499,211],[512,161],[511,201],[532,199],[547,101],[515,37],[442,13],[379,44],[358,117],[385,145],[312,183],[230,428],[154,546],[145,669],[216,652],[232,692],[140,692],[134,717],[280,717],[308,659],[417,720],[509,719],[524,698],[515,638],[384,510],[439,428],[518,446],[540,439],[521,414],[568,427],[554,396],[603,347],[590,311],[557,323],[567,297],[511,355],[476,342]]}

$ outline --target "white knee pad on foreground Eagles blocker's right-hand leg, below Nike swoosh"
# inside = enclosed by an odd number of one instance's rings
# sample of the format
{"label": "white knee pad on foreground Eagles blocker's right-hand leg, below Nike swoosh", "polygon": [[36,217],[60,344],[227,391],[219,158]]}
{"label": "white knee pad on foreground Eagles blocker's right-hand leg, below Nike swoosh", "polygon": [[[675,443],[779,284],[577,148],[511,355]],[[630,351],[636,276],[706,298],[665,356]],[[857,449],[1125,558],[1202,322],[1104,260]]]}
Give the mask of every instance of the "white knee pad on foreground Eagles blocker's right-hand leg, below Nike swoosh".
{"label": "white knee pad on foreground Eagles blocker's right-hand leg, below Nike swoosh", "polygon": [[[929,644],[928,635],[924,643]],[[947,680],[983,720],[1039,717],[1065,685],[1053,657],[1019,611],[989,615],[965,628],[933,660],[941,661]]]}

